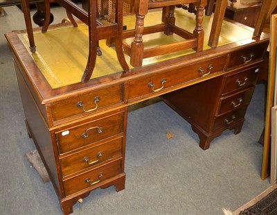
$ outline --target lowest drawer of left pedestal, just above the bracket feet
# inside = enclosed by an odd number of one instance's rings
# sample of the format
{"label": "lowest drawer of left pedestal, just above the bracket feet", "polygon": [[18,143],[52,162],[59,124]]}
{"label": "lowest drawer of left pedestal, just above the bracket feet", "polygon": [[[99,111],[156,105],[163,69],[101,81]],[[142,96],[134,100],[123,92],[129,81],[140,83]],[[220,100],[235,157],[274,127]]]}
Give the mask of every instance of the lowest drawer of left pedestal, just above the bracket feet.
{"label": "lowest drawer of left pedestal, just above the bracket feet", "polygon": [[100,182],[104,182],[122,173],[122,160],[115,160],[104,166],[100,166],[82,175],[74,178],[64,180],[65,195],[69,196],[73,193],[87,189],[89,187],[96,187]]}

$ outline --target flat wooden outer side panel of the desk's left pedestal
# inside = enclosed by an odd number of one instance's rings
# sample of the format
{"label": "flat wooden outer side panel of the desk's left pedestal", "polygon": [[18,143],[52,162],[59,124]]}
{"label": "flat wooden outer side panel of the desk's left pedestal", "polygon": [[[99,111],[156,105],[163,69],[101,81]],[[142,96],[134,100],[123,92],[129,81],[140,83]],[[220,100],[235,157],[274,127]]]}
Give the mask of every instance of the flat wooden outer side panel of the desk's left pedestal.
{"label": "flat wooden outer side panel of the desk's left pedestal", "polygon": [[24,78],[21,76],[21,70],[16,63],[15,71],[17,74],[21,101],[24,108],[27,130],[29,135],[33,138],[35,146],[39,151],[39,155],[44,162],[44,166],[46,167],[48,175],[53,182],[55,190],[57,193],[61,193],[51,132],[48,130],[47,123],[44,121],[42,112],[39,111],[39,107],[37,107],[37,103],[35,103],[35,99],[30,92],[31,89],[28,89]]}

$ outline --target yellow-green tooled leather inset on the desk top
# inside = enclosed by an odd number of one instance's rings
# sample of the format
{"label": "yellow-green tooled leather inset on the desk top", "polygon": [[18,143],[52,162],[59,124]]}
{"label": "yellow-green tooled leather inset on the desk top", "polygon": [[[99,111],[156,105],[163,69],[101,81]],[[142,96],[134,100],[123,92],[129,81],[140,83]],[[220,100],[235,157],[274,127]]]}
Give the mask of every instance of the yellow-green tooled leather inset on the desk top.
{"label": "yellow-green tooled leather inset on the desk top", "polygon": [[[186,15],[186,17],[184,17]],[[195,15],[186,12],[185,10],[177,10],[176,12],[177,26],[182,26],[189,32],[193,32],[195,28]],[[184,17],[184,18],[183,18]],[[156,20],[161,19],[161,12],[151,12],[146,16],[145,26],[150,25]],[[181,22],[183,21],[183,22]],[[185,21],[185,22],[184,22]],[[209,28],[211,28],[211,17],[204,17],[204,32],[205,42],[204,50],[210,49],[207,45]],[[127,28],[134,26],[134,16],[127,16],[124,19]],[[157,22],[155,23],[157,24]],[[48,83],[54,89],[65,85],[80,82],[84,68],[87,64],[88,55],[88,27],[85,24],[79,24],[78,28],[73,28],[71,25],[59,28],[49,29],[47,33],[35,31],[35,44],[37,46],[36,53],[30,53],[33,60],[42,71]],[[234,41],[240,41],[252,37],[252,31],[247,28],[242,28],[230,22],[224,22],[222,33],[220,35],[219,46],[228,44]],[[19,35],[21,41],[28,48],[28,37],[26,33]],[[132,38],[128,39],[129,43]],[[176,42],[184,40],[178,35],[163,35],[163,33],[154,33],[152,35],[144,35],[143,43],[145,47],[166,44],[168,42]],[[155,44],[156,43],[156,44]],[[105,40],[100,41],[102,55],[96,59],[96,67],[93,70],[91,78],[107,76],[117,71],[122,71],[113,48],[105,45]],[[167,55],[159,55],[153,58],[143,60],[143,65],[150,65],[154,62],[160,62],[170,58],[177,58],[181,55],[195,53],[193,49],[186,49]],[[129,56],[125,55],[127,62]]]}

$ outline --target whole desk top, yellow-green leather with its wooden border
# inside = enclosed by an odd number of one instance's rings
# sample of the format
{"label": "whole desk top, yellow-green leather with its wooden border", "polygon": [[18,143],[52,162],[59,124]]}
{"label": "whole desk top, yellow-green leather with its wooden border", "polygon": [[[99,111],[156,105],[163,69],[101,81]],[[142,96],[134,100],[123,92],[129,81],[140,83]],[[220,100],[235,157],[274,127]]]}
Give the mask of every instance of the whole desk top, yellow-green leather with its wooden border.
{"label": "whole desk top, yellow-green leather with its wooden border", "polygon": [[[176,10],[175,17],[177,26],[193,32],[195,28],[195,15],[180,8]],[[145,17],[145,26],[157,24],[157,20],[161,20],[161,12],[150,12]],[[205,55],[228,51],[229,49],[251,42],[268,40],[268,35],[266,34],[254,38],[252,28],[238,23],[224,21],[218,46],[215,49],[211,49],[207,44],[212,22],[213,16],[204,17],[204,51],[196,53],[193,49],[186,49],[167,55],[147,58],[143,60],[143,67],[132,68],[132,71],[127,74],[123,74],[116,59],[114,49],[106,46],[104,40],[100,41],[102,55],[97,57],[96,67],[93,70],[91,80],[86,84],[80,83],[84,68],[87,65],[89,47],[88,27],[85,24],[79,24],[78,28],[73,28],[71,25],[58,25],[50,28],[47,33],[41,33],[40,29],[34,31],[35,44],[37,46],[36,53],[30,53],[28,49],[28,37],[25,31],[8,33],[6,37],[17,58],[21,58],[21,60],[26,59],[26,62],[22,62],[21,65],[33,65],[35,63],[39,71],[42,72],[43,75],[35,72],[33,74],[29,73],[29,76],[36,76],[35,78],[31,77],[31,79],[33,79],[34,85],[37,86],[37,91],[41,94],[40,91],[46,91],[47,88],[48,92],[51,91],[51,95],[55,96],[55,94],[60,94],[60,92],[71,92],[72,90],[79,89],[80,86],[87,88],[100,83],[107,84],[111,80],[130,79],[133,75],[141,75],[140,73],[145,71],[161,70],[163,67],[168,67],[168,65],[177,65],[180,62],[184,63],[185,61],[204,58]],[[134,26],[134,16],[124,17],[124,24],[126,24],[127,29],[132,28],[130,26]],[[132,42],[132,38],[128,40]],[[163,35],[163,33],[143,36],[143,42],[146,47],[155,46],[157,42],[159,44],[165,44],[166,42],[179,40],[184,39],[177,35],[168,36]],[[26,58],[22,58],[23,55]],[[125,58],[129,62],[129,56],[125,55]],[[38,79],[41,79],[40,83],[35,81]],[[45,79],[45,83],[42,83]],[[43,97],[42,95],[42,99],[44,99]]]}

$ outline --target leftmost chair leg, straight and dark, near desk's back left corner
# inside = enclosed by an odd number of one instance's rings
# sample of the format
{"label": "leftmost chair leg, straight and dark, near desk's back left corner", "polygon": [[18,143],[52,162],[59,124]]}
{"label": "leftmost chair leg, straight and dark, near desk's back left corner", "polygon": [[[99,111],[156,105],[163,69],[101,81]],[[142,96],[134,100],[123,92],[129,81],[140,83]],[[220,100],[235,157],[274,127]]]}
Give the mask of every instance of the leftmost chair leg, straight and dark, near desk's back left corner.
{"label": "leftmost chair leg, straight and dark, near desk's back left corner", "polygon": [[24,19],[26,23],[26,30],[28,34],[28,40],[30,43],[30,51],[35,52],[35,40],[34,40],[34,34],[33,34],[33,27],[32,27],[32,21],[30,19],[30,8],[29,8],[29,0],[22,0],[22,10],[24,13]]}

